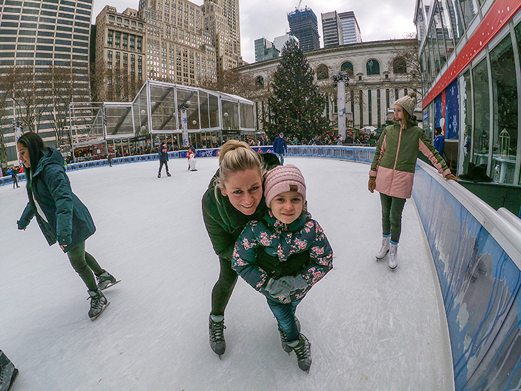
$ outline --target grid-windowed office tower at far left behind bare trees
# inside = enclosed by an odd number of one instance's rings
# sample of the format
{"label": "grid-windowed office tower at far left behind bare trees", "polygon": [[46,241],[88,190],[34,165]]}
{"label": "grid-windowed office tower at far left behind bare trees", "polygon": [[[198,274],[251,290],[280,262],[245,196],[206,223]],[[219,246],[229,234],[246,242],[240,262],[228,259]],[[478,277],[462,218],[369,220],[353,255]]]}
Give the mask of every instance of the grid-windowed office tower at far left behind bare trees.
{"label": "grid-windowed office tower at far left behind bare trees", "polygon": [[[3,165],[19,165],[13,127],[15,122],[23,124],[24,131],[38,131],[47,144],[56,145],[59,137],[56,117],[63,117],[66,105],[65,108],[58,105],[53,88],[44,88],[39,84],[43,78],[51,76],[50,67],[68,72],[69,80],[74,80],[70,99],[90,99],[91,15],[90,0],[11,0],[0,3],[0,74],[23,69],[26,90],[35,94],[33,102],[38,101],[28,107],[28,99],[13,98],[13,93],[19,95],[19,90],[6,91],[7,83],[0,85],[0,94],[7,97],[5,101],[2,99],[1,108],[4,113],[1,131],[5,145],[0,147],[5,148],[7,156],[7,162],[4,160]],[[56,73],[52,77],[54,83]],[[37,90],[38,93],[35,93]]]}

